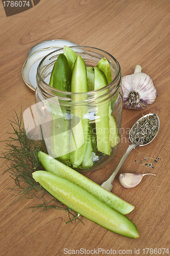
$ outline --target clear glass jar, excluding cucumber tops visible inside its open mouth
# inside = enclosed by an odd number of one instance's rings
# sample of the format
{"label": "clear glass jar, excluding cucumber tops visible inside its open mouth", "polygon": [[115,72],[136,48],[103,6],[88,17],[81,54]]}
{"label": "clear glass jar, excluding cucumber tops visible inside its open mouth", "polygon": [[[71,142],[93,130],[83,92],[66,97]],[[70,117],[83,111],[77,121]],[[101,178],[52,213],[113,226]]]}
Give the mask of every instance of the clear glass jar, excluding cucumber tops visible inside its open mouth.
{"label": "clear glass jar, excluding cucumber tops visible inside its open mouth", "polygon": [[86,67],[107,58],[112,81],[102,89],[85,93],[64,92],[48,85],[63,48],[46,55],[37,69],[35,101],[44,152],[78,172],[104,166],[115,155],[123,108],[119,63],[109,53],[93,47],[70,47]]}

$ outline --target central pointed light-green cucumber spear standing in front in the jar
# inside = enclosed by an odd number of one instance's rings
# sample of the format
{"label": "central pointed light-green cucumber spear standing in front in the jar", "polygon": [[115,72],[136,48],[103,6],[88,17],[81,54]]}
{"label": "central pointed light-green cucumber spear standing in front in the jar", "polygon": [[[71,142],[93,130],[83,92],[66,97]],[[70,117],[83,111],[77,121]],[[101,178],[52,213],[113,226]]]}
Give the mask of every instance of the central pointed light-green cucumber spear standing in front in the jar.
{"label": "central pointed light-green cucumber spear standing in front in the jar", "polygon": [[[85,93],[87,92],[87,71],[84,59],[78,55],[71,78],[71,92]],[[74,94],[72,100],[81,102],[86,99],[85,94]],[[71,108],[73,118],[71,120],[71,136],[70,136],[70,154],[69,158],[73,167],[77,168],[82,163],[86,148],[88,135],[88,109],[86,106],[81,106],[81,103]],[[75,149],[76,146],[76,150]]]}

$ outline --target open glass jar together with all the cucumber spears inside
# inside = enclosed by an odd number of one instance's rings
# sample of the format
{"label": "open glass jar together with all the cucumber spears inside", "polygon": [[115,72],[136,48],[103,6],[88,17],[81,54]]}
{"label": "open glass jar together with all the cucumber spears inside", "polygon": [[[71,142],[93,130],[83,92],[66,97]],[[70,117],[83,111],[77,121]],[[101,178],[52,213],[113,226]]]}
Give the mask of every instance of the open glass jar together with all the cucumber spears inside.
{"label": "open glass jar together with all the cucumber spears inside", "polygon": [[122,118],[118,61],[93,47],[46,55],[35,93],[44,152],[78,172],[105,165],[116,153]]}

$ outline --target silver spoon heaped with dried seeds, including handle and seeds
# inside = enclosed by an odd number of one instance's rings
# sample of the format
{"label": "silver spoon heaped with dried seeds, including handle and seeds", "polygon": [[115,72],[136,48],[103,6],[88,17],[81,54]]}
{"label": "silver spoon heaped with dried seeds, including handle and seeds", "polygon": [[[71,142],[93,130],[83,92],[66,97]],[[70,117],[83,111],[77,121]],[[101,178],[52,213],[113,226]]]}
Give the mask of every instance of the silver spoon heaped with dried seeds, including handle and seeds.
{"label": "silver spoon heaped with dried seeds, including handle and seeds", "polygon": [[120,160],[113,174],[110,176],[108,180],[102,183],[102,187],[111,191],[113,186],[113,180],[117,175],[120,167],[123,165],[126,158],[128,157],[129,153],[136,146],[144,146],[151,143],[158,134],[159,126],[159,117],[153,113],[142,116],[140,119],[136,121],[136,123],[132,126],[129,132],[129,139],[132,143],[128,146],[127,151],[125,152],[123,158]]}

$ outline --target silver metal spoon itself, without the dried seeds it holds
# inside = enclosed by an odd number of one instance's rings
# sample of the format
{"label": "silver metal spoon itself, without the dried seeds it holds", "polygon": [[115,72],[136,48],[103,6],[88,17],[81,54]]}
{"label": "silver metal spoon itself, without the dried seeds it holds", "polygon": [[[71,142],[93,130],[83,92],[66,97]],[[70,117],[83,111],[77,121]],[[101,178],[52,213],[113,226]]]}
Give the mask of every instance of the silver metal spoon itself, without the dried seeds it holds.
{"label": "silver metal spoon itself, without the dried seeds it holds", "polygon": [[[151,139],[149,139],[148,141],[144,141],[144,142],[136,142],[135,139],[134,139],[134,135],[135,133],[133,132],[134,128],[138,125],[137,127],[137,131],[140,131],[142,130],[142,125],[140,125],[140,121],[145,118],[145,117],[149,117],[149,116],[155,116],[156,117],[156,125],[153,125],[156,126],[154,127],[154,129],[156,129],[156,133],[153,137],[151,137]],[[147,124],[147,123],[145,123]],[[149,123],[148,123],[149,124]],[[136,125],[136,126],[135,126]],[[119,164],[117,165],[116,169],[114,170],[113,174],[110,176],[110,178],[103,182],[103,184],[101,185],[102,187],[104,187],[105,189],[111,191],[112,189],[112,186],[113,186],[113,180],[116,176],[116,174],[118,173],[120,167],[123,165],[123,163],[125,162],[126,158],[128,157],[129,153],[136,147],[136,146],[144,146],[144,145],[147,145],[149,144],[151,141],[153,141],[156,137],[156,135],[158,134],[158,131],[159,131],[159,126],[160,126],[160,121],[159,121],[159,117],[156,115],[156,114],[153,114],[153,113],[150,113],[148,115],[145,115],[145,116],[142,116],[131,128],[130,132],[129,132],[129,139],[130,141],[132,142],[129,146],[128,146],[128,149],[127,151],[125,152],[123,158],[120,160]],[[139,130],[140,129],[140,130]],[[149,131],[149,126],[145,126],[145,129],[147,129]],[[151,128],[152,129],[152,128]],[[152,131],[154,130],[152,129]],[[144,131],[144,130],[142,130]],[[133,133],[133,135],[132,135]],[[144,136],[143,136],[144,137]]]}

